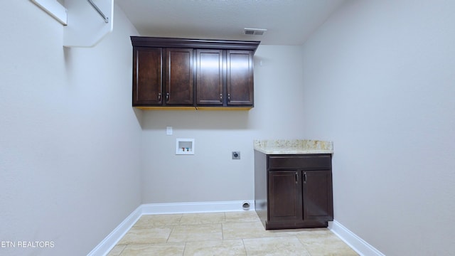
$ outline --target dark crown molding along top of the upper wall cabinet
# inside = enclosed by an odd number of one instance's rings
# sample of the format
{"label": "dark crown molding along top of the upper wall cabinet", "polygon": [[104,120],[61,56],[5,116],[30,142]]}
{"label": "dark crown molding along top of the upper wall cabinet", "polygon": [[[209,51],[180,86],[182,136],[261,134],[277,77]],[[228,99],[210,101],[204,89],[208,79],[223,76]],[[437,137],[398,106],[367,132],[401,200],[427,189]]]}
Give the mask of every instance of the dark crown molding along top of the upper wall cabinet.
{"label": "dark crown molding along top of the upper wall cabinet", "polygon": [[130,36],[132,46],[161,48],[205,48],[223,50],[252,50],[256,52],[260,41],[233,41],[191,38],[158,38],[149,36]]}

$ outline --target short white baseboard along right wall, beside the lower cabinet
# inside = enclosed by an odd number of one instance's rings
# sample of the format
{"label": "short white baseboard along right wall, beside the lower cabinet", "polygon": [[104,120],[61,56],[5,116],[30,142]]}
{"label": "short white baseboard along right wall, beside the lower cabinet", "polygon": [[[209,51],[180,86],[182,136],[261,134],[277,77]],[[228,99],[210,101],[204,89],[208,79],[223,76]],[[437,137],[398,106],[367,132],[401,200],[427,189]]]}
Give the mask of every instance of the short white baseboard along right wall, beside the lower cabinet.
{"label": "short white baseboard along right wall, beside the lower cabinet", "polygon": [[377,250],[375,247],[370,245],[368,242],[365,242],[362,238],[359,238],[358,235],[352,233],[348,228],[338,223],[338,221],[333,220],[333,222],[328,223],[328,229],[331,230],[335,235],[338,235],[341,240],[346,242],[355,252],[361,256],[385,256]]}

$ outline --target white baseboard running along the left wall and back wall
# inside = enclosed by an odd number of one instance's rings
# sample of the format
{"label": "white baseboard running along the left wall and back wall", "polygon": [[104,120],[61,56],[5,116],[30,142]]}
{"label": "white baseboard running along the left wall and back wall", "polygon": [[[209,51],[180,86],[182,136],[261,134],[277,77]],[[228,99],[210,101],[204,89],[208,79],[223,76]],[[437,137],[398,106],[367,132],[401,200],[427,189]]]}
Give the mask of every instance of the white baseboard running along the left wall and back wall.
{"label": "white baseboard running along the left wall and back wall", "polygon": [[107,235],[87,256],[107,255],[117,242],[123,238],[141,215],[172,213],[217,213],[241,211],[244,203],[250,203],[249,210],[255,210],[255,200],[193,202],[193,203],[146,203],[134,210],[117,228]]}

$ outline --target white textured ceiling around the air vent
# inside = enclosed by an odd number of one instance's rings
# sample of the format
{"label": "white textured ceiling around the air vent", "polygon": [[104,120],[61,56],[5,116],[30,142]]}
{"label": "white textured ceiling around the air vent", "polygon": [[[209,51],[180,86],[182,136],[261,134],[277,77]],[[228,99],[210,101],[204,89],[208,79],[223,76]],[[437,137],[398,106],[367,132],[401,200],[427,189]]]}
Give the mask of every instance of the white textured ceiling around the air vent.
{"label": "white textured ceiling around the air vent", "polygon": [[[140,36],[301,45],[346,0],[115,0]],[[243,28],[266,28],[264,36]]]}

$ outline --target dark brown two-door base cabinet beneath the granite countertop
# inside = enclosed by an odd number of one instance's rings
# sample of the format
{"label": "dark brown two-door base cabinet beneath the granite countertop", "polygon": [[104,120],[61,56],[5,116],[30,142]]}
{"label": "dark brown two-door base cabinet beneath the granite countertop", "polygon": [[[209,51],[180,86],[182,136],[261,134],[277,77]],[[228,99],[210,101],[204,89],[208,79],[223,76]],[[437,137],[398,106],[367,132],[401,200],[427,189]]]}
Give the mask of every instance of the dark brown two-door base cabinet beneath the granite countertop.
{"label": "dark brown two-door base cabinet beneath the granite countertop", "polygon": [[333,220],[331,154],[255,151],[255,208],[267,230],[327,227]]}

